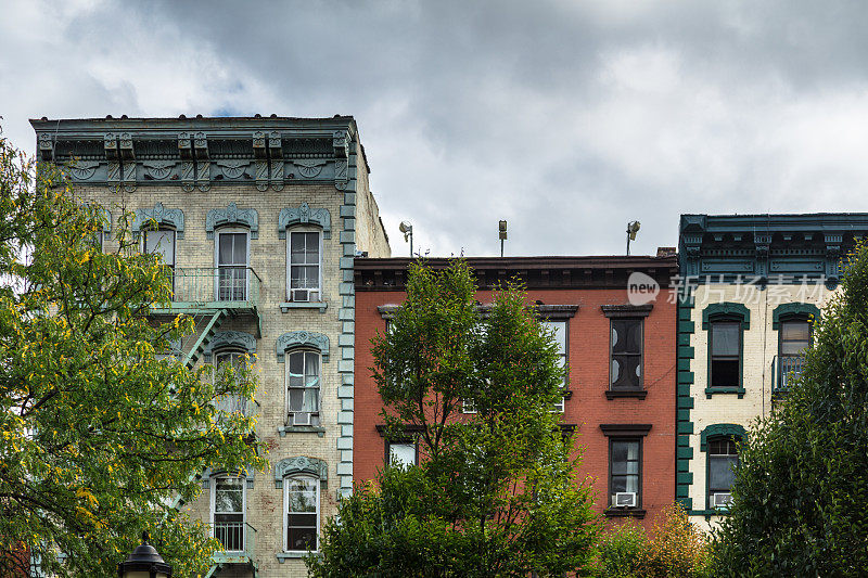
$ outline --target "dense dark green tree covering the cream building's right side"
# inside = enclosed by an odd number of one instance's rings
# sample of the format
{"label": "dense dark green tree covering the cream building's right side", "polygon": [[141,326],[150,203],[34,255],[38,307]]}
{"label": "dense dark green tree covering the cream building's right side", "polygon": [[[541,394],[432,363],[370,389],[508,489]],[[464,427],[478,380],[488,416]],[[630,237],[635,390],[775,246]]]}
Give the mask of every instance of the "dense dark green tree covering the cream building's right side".
{"label": "dense dark green tree covering the cream building's right side", "polygon": [[720,576],[864,576],[868,568],[868,248],[814,323],[801,378],[742,445],[715,536]]}

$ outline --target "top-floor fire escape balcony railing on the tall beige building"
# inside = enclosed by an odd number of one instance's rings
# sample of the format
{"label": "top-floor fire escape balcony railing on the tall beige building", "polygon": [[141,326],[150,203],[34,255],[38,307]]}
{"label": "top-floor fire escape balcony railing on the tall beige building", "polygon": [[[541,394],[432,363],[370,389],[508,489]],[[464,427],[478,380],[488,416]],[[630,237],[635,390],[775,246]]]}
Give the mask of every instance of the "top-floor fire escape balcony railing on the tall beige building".
{"label": "top-floor fire escape balcony railing on the tall beige building", "polygon": [[176,267],[173,307],[255,308],[261,283],[251,267]]}

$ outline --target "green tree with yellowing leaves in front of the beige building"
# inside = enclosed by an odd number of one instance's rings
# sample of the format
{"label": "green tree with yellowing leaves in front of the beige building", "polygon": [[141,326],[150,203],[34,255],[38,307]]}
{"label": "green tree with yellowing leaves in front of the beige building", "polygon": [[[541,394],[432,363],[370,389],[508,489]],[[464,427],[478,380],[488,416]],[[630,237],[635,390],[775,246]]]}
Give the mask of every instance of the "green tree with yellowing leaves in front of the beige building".
{"label": "green tree with yellowing leaves in front of the beige building", "polygon": [[103,214],[0,139],[2,576],[28,553],[48,573],[114,576],[142,530],[178,575],[201,574],[215,542],[169,504],[206,465],[265,465],[252,420],[214,403],[252,397],[250,372],[161,359],[192,320],[149,320],[170,279],[128,215],[102,252]]}

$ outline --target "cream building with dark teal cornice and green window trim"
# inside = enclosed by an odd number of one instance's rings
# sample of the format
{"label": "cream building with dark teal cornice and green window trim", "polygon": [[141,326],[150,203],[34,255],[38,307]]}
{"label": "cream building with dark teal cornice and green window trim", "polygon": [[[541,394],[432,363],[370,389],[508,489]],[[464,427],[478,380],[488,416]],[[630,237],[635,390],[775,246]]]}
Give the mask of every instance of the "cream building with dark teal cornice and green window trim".
{"label": "cream building with dark teal cornice and green window trim", "polygon": [[[801,357],[787,355],[783,325],[803,324],[809,343],[809,323],[838,286],[842,257],[868,233],[868,215],[682,215],[679,233],[677,494],[710,528],[726,515],[714,504],[711,452],[737,453],[711,444],[738,441],[786,397]],[[726,384],[713,376],[727,363],[724,346],[712,355],[715,323],[732,327],[733,375],[718,373]],[[724,365],[713,369],[712,357]]]}

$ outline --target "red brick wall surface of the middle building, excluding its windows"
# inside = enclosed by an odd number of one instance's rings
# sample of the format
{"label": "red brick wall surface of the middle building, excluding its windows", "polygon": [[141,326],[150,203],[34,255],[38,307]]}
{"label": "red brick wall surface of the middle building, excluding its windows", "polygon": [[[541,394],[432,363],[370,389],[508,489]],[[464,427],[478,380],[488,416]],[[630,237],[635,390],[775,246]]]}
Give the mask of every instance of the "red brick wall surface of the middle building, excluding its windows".
{"label": "red brick wall surface of the middle building, excluding its windows", "polygon": [[[356,431],[354,472],[357,481],[373,479],[382,467],[385,447],[376,425],[382,403],[371,378],[370,339],[385,330],[378,310],[399,305],[408,259],[356,259]],[[434,267],[443,259],[431,259]],[[636,517],[650,527],[654,517],[675,499],[675,311],[668,298],[675,275],[674,257],[526,257],[469,258],[481,291],[477,299],[492,301],[498,280],[519,274],[528,286],[529,303],[577,306],[567,320],[567,362],[571,397],[562,423],[574,426],[576,444],[584,449],[582,471],[590,476],[597,493],[595,510],[612,518]],[[644,272],[664,287],[644,318],[643,398],[613,397],[610,388],[610,318],[603,306],[627,306],[627,277]],[[637,313],[639,314],[639,313]],[[633,426],[648,426],[641,438],[641,508],[608,508],[609,437],[624,435]],[[626,432],[623,432],[626,429]],[[613,437],[614,439],[615,437]]]}

